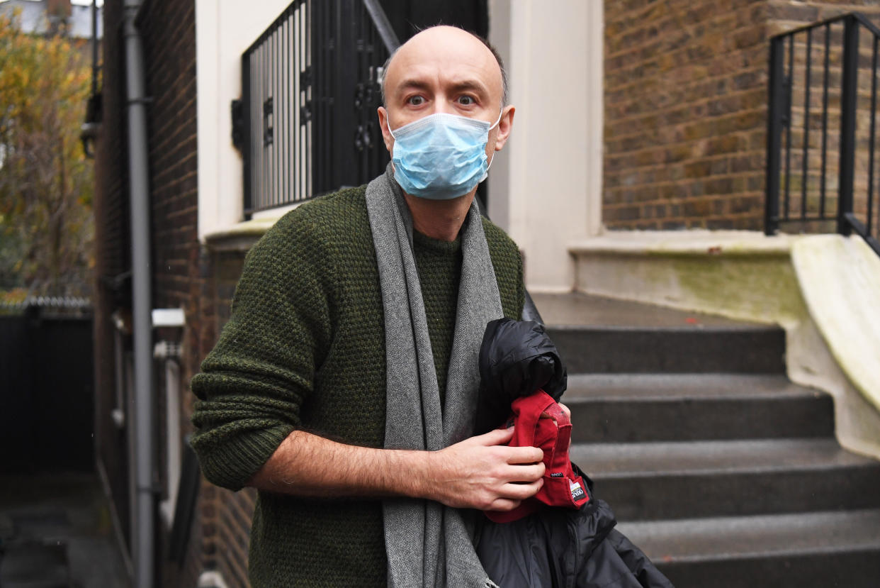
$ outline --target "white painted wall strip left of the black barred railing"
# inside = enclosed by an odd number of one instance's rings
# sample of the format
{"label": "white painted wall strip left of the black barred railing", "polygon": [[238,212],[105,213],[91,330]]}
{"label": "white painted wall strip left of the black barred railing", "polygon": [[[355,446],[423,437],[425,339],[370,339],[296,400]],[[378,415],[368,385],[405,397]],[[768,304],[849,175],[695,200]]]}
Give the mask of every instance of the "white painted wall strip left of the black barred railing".
{"label": "white painted wall strip left of the black barred railing", "polygon": [[242,220],[242,160],[231,138],[231,101],[241,97],[241,54],[290,0],[196,0],[199,238]]}

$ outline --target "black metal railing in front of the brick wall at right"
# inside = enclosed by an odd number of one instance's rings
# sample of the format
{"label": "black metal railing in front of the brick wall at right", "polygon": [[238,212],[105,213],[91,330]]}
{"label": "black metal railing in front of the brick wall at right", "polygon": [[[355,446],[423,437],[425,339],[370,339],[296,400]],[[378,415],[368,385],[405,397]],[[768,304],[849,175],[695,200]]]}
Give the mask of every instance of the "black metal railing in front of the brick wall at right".
{"label": "black metal railing in front of the brick wall at right", "polygon": [[[870,66],[860,60],[860,30],[867,31],[872,41]],[[817,32],[824,33],[819,36],[818,49],[814,48]],[[880,205],[875,202],[880,190],[874,185],[880,177],[874,173],[878,48],[880,28],[858,12],[802,26],[770,39],[766,234],[776,234],[781,224],[797,224],[801,230],[822,230],[823,225],[833,223],[840,234],[860,234],[880,255],[880,242],[876,239],[876,226],[880,224],[876,212]],[[838,54],[840,58],[836,57]],[[817,57],[821,58],[820,63],[814,63]],[[821,69],[821,76],[813,76],[814,67]],[[860,70],[870,75],[869,93],[860,90]],[[830,78],[837,76],[839,89],[830,85]],[[820,88],[814,87],[818,79]],[[813,93],[815,90],[821,93]],[[840,119],[835,121],[829,116],[829,93],[833,94],[833,102],[838,92]],[[818,95],[821,111],[815,116],[811,111],[814,112],[813,102],[818,101]],[[859,128],[860,108],[862,113],[867,110],[867,131],[864,123]],[[828,157],[828,139],[833,138],[835,131],[839,142],[836,161]],[[820,133],[821,146],[811,141],[814,132]],[[792,158],[800,158],[800,165],[793,166]],[[829,185],[829,167],[833,171],[835,166],[836,186]],[[835,190],[837,210],[830,212],[828,198]],[[799,198],[794,197],[794,192],[799,192]]]}

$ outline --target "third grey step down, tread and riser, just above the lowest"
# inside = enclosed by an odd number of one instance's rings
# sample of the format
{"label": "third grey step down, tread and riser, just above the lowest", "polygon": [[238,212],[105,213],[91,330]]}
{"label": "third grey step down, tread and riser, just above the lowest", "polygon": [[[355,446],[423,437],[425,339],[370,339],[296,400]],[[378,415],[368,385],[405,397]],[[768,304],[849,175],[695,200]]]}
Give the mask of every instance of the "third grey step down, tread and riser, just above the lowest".
{"label": "third grey step down, tread and riser, just above the lowest", "polygon": [[621,521],[880,508],[880,462],[832,438],[590,443],[570,454]]}

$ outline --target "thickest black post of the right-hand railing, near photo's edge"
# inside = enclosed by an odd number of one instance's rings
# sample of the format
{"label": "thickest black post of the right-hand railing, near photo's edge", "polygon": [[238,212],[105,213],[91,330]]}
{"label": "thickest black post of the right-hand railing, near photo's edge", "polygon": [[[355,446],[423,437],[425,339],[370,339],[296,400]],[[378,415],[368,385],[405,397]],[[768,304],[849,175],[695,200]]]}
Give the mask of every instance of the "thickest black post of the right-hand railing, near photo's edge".
{"label": "thickest black post of the right-hand railing, near photo's edge", "polygon": [[855,108],[858,99],[859,23],[850,16],[843,23],[843,78],[840,87],[840,181],[837,232],[852,232],[847,215],[853,212],[855,170]]}

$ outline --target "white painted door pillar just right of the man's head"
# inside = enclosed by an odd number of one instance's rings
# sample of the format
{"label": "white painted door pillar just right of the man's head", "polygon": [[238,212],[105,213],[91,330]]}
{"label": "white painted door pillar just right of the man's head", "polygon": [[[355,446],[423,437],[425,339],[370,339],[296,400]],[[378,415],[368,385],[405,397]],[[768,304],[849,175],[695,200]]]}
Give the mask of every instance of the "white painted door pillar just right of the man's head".
{"label": "white painted door pillar just right of the man's head", "polygon": [[490,0],[513,133],[493,163],[489,216],[524,250],[534,292],[567,292],[568,244],[601,230],[603,3]]}

